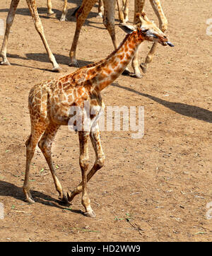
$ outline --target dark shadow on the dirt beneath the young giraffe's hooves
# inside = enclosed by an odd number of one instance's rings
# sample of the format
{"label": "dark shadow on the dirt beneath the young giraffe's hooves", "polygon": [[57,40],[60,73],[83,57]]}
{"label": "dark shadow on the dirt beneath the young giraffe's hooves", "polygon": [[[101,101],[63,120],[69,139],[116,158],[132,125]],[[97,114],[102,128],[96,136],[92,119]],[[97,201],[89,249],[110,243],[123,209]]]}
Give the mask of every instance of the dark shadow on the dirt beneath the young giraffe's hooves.
{"label": "dark shadow on the dirt beneath the young giraffe's hooves", "polygon": [[[53,197],[39,192],[37,190],[30,190],[35,203],[45,204],[47,206],[57,207],[61,210],[67,209],[67,205],[61,202],[59,199],[54,199]],[[18,200],[25,202],[25,196],[23,194],[22,187],[17,187],[16,185],[0,180],[0,196],[1,197],[13,197]],[[83,214],[81,210],[70,209],[69,211],[76,214]]]}

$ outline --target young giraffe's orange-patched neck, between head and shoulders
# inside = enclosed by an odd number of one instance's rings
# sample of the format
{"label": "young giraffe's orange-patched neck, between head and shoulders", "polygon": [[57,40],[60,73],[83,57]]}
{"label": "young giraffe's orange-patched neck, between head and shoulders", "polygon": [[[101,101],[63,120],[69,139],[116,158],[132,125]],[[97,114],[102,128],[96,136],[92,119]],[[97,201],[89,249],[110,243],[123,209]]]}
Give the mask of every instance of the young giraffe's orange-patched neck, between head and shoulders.
{"label": "young giraffe's orange-patched neck, between head and shoulders", "polygon": [[122,44],[110,54],[104,62],[95,66],[95,89],[102,91],[122,74],[126,66],[131,62],[139,45],[143,42],[141,35],[135,31],[126,35]]}

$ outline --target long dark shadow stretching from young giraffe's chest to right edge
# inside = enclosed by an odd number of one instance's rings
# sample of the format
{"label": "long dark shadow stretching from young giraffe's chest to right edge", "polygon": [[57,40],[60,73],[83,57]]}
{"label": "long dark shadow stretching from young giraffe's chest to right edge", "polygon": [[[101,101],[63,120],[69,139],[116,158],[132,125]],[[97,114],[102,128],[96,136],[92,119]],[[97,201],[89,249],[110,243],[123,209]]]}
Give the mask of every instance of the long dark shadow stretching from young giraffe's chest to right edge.
{"label": "long dark shadow stretching from young giraffe's chest to right edge", "polygon": [[126,86],[119,86],[119,83],[112,83],[112,86],[122,88],[124,90],[139,94],[146,98],[150,98],[151,100],[154,100],[156,103],[159,103],[160,105],[164,105],[165,107],[168,107],[170,110],[177,112],[179,115],[184,115],[187,117],[195,118],[197,120],[202,120],[204,122],[212,123],[212,112],[202,107],[196,107],[194,105],[188,105],[184,103],[173,103],[167,100],[162,100],[155,96],[152,96],[146,93],[141,93],[139,91],[136,91],[132,88],[128,88]]}

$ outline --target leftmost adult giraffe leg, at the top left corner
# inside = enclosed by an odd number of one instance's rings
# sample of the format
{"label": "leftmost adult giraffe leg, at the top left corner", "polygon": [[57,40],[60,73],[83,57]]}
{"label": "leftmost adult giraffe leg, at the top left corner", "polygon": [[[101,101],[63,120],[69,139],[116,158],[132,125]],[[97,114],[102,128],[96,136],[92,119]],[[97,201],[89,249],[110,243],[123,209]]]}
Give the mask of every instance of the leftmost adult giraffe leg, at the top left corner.
{"label": "leftmost adult giraffe leg, at the top left corner", "polygon": [[2,62],[0,62],[1,65],[10,65],[10,62],[8,62],[8,59],[6,57],[6,48],[7,48],[7,44],[8,44],[8,36],[11,30],[11,25],[13,25],[13,21],[14,21],[14,17],[16,15],[16,9],[18,6],[20,0],[12,0],[11,1],[11,6],[10,9],[8,11],[8,15],[6,18],[6,30],[4,33],[4,41],[3,41],[3,45],[1,47],[1,53],[0,56],[2,57]]}

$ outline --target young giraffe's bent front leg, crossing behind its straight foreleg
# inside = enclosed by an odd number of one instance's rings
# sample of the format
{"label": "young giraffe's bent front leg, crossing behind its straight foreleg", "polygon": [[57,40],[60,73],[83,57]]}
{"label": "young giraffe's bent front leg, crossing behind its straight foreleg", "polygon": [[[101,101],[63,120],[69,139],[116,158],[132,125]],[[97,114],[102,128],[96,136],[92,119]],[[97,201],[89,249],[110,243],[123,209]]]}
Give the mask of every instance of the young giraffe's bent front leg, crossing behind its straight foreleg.
{"label": "young giraffe's bent front leg, crossing behind its straight foreleg", "polygon": [[[100,142],[100,131],[98,126],[94,127],[90,131],[90,140],[93,145],[93,149],[95,151],[95,163],[93,165],[93,168],[90,170],[90,172],[87,175],[87,182],[93,177],[93,175],[102,168],[102,166],[105,163],[105,154],[102,150],[101,142]],[[69,202],[73,200],[73,198],[80,194],[83,190],[82,182],[70,193],[67,193]]]}

